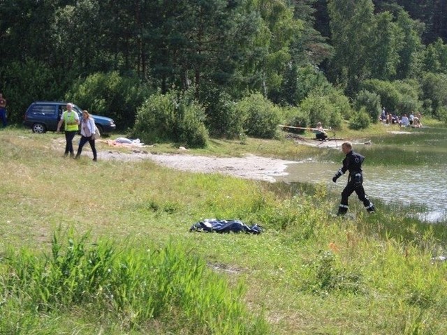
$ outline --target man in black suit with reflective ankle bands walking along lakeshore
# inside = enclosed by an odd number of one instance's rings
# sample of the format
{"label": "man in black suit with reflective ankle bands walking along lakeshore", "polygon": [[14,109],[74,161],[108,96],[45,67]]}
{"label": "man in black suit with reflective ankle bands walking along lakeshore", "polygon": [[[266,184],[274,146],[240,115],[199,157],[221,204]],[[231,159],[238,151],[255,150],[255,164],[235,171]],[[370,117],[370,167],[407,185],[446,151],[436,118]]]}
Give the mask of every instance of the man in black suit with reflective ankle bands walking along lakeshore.
{"label": "man in black suit with reflective ankle bands walking along lakeshore", "polygon": [[365,189],[363,188],[362,162],[365,160],[365,157],[354,152],[350,142],[344,142],[342,144],[342,151],[346,157],[343,160],[342,168],[340,168],[335,176],[332,177],[332,181],[336,183],[337,179],[339,179],[339,177],[346,171],[349,171],[349,177],[348,184],[346,184],[346,187],[342,191],[342,201],[340,202],[337,215],[346,214],[349,209],[349,196],[353,192],[356,192],[358,199],[365,205],[365,209],[369,213],[374,213],[374,204],[369,201],[365,194]]}

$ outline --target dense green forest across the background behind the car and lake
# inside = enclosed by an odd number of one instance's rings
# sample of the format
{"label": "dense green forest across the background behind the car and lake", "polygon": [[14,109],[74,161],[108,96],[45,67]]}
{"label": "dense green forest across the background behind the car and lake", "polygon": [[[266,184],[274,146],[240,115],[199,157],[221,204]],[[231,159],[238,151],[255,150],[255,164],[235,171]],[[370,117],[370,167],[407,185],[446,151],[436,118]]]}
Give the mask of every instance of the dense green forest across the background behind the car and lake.
{"label": "dense green forest across the background behind the car and lake", "polygon": [[372,105],[447,116],[446,1],[2,0],[0,12],[0,91],[17,123],[31,101],[70,99],[133,128],[166,94],[228,137],[256,135],[249,112],[235,121],[249,96],[300,125],[360,110],[374,122]]}

